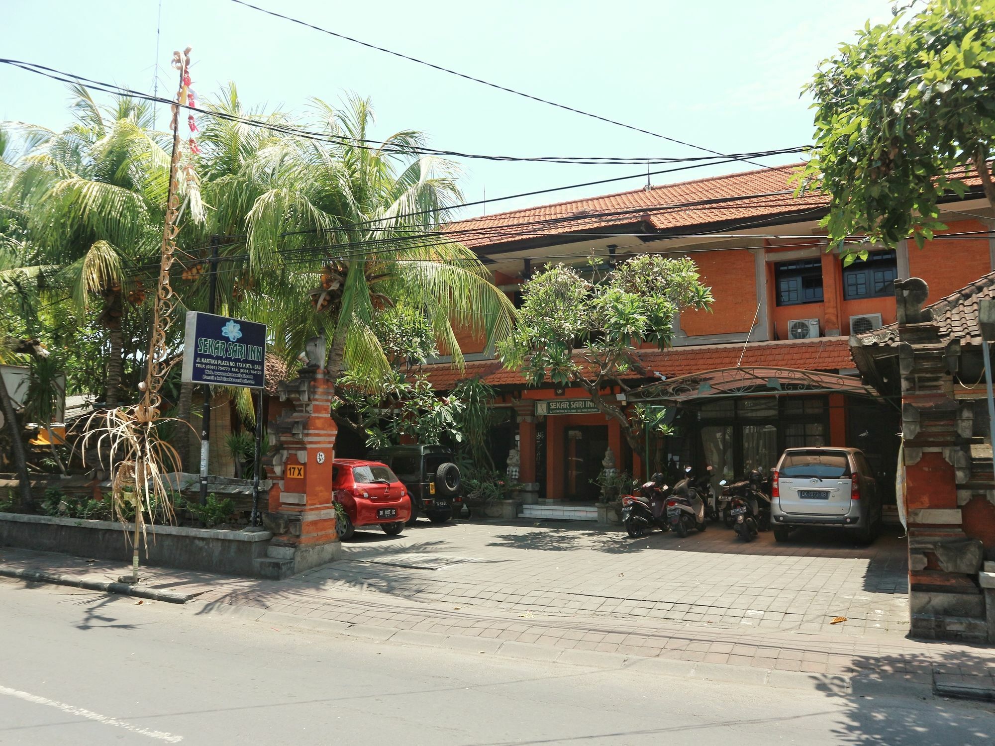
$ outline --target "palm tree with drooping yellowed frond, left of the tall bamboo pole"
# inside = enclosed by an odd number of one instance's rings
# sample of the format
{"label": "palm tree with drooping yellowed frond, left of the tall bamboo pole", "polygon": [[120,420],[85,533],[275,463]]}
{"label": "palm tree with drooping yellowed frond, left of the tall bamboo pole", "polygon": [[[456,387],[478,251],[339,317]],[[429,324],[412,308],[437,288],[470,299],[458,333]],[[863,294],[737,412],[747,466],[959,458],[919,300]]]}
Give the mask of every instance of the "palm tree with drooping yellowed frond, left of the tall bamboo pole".
{"label": "palm tree with drooping yellowed frond, left of the tall bamboo pole", "polygon": [[18,162],[8,194],[23,204],[42,256],[63,268],[78,311],[92,295],[102,298],[105,402],[113,408],[123,371],[125,267],[157,256],[169,156],[150,130],[147,102],[118,97],[101,110],[85,88],[72,90],[74,123],[59,133],[31,129],[33,147]]}

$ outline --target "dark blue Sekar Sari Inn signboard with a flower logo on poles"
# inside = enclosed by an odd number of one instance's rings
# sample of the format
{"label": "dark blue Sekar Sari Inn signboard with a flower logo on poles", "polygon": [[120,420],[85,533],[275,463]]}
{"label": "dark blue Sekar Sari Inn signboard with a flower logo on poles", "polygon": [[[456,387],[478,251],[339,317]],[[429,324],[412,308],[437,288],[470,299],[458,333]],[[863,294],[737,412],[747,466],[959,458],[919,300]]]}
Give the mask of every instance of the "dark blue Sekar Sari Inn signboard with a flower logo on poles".
{"label": "dark blue Sekar Sari Inn signboard with a flower logo on poles", "polygon": [[263,388],[266,324],[187,311],[183,380]]}

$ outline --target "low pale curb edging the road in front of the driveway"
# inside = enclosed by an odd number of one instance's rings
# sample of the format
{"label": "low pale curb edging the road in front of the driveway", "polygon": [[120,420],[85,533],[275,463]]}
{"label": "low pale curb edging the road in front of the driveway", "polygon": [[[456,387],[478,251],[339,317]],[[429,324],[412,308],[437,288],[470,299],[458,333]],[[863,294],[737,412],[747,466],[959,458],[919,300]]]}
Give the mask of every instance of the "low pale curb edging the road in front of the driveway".
{"label": "low pale curb edging the road in front of the driveway", "polygon": [[[230,617],[248,622],[265,622],[270,625],[319,633],[331,633],[374,643],[400,643],[426,648],[445,648],[497,655],[585,665],[594,668],[631,668],[674,678],[695,678],[723,683],[751,684],[777,689],[816,690],[837,695],[860,696],[933,696],[931,680],[918,680],[908,674],[827,674],[759,668],[749,665],[706,663],[676,658],[647,657],[600,651],[577,651],[537,643],[518,643],[495,638],[475,638],[466,635],[442,635],[420,630],[391,630],[373,625],[349,625],[324,619],[298,617],[284,612],[264,612],[227,604],[208,606],[199,614]],[[947,696],[950,696],[948,693]]]}

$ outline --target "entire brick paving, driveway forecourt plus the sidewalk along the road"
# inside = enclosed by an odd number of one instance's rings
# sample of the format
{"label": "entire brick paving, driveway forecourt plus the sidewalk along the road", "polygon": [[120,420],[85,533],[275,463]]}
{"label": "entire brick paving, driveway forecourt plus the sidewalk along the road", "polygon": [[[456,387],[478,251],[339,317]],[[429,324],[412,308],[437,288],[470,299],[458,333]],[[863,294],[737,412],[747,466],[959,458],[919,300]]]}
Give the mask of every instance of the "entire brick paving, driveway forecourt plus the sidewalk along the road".
{"label": "entire brick paving, driveway forecourt plus the sidewalk along the road", "polygon": [[[653,534],[631,542],[573,526],[426,523],[400,538],[360,534],[344,548],[343,561],[287,581],[146,568],[142,584],[199,593],[184,607],[198,614],[242,608],[264,621],[279,613],[481,645],[995,689],[991,648],[905,638],[904,551],[894,535],[855,550],[818,535],[811,543],[745,545],[716,528],[683,540]],[[437,570],[379,564],[403,564],[412,554],[475,561]],[[125,571],[0,548],[4,568],[99,580]],[[830,625],[835,616],[847,621]]]}

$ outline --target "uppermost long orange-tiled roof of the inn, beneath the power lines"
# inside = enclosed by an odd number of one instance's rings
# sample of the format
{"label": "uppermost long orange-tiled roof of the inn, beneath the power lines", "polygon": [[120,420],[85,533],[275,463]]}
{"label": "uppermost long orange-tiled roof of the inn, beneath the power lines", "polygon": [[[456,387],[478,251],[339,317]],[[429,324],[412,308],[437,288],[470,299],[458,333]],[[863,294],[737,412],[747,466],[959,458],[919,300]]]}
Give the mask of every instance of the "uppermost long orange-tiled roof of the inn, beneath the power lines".
{"label": "uppermost long orange-tiled roof of the inn, beneath the power lines", "polygon": [[[496,213],[453,223],[446,232],[458,234],[465,246],[477,248],[640,221],[649,223],[654,229],[665,230],[824,207],[827,200],[822,195],[807,194],[797,199],[792,196],[794,185],[788,183],[788,177],[800,165],[794,163]],[[592,217],[584,218],[586,214]]]}

